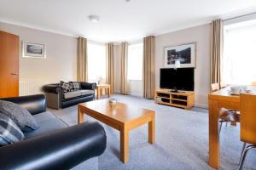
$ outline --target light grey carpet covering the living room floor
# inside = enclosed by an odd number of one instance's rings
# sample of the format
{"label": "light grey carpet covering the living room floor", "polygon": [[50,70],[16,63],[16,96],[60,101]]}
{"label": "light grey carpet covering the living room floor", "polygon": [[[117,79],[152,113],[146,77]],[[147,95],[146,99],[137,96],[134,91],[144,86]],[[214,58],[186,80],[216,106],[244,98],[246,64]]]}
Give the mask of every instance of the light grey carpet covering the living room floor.
{"label": "light grey carpet covering the living room floor", "polygon": [[[113,98],[156,111],[156,144],[147,142],[147,125],[134,129],[130,133],[129,162],[124,164],[119,161],[119,132],[103,125],[108,137],[107,150],[97,160],[94,158],[93,161],[87,161],[85,167],[76,169],[211,169],[207,165],[207,110],[194,108],[185,111],[132,96],[114,95]],[[77,106],[50,111],[69,126],[77,123]],[[94,121],[89,116],[85,118]],[[221,169],[237,169],[242,146],[239,125],[224,127],[220,140]],[[248,153],[244,169],[256,169],[256,150]]]}

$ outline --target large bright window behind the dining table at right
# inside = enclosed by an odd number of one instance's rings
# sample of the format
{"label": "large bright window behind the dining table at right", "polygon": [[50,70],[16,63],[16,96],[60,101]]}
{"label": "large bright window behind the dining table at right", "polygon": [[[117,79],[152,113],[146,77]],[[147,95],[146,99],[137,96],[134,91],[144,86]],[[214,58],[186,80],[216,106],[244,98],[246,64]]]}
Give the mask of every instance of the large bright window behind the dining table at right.
{"label": "large bright window behind the dining table at right", "polygon": [[251,84],[256,81],[256,20],[224,26],[222,82]]}

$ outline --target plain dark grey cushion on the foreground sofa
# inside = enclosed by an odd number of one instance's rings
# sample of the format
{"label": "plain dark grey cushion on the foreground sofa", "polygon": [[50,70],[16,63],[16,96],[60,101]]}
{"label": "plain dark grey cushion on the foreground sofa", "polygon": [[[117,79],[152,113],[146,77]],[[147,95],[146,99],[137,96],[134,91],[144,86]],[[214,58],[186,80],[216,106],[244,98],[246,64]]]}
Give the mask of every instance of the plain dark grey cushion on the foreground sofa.
{"label": "plain dark grey cushion on the foreground sofa", "polygon": [[38,123],[35,118],[25,108],[15,103],[0,100],[0,112],[9,116],[23,132],[30,132],[38,129]]}

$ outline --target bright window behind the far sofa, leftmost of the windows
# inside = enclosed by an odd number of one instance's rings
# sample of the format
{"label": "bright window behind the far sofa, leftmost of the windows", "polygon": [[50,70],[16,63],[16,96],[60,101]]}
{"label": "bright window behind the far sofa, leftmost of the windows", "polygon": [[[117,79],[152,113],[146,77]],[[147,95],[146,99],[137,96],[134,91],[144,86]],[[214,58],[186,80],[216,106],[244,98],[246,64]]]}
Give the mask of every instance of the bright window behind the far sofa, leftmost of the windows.
{"label": "bright window behind the far sofa, leftmost of the windows", "polygon": [[88,80],[89,82],[98,82],[106,80],[106,47],[94,43],[88,43]]}

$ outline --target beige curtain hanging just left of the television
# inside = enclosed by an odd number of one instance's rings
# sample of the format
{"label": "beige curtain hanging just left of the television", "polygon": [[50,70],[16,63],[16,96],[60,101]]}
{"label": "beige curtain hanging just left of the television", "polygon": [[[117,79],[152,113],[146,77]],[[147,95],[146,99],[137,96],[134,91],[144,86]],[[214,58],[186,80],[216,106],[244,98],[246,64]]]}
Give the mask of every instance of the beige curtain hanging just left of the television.
{"label": "beige curtain hanging just left of the television", "polygon": [[143,38],[143,96],[154,99],[154,37]]}

